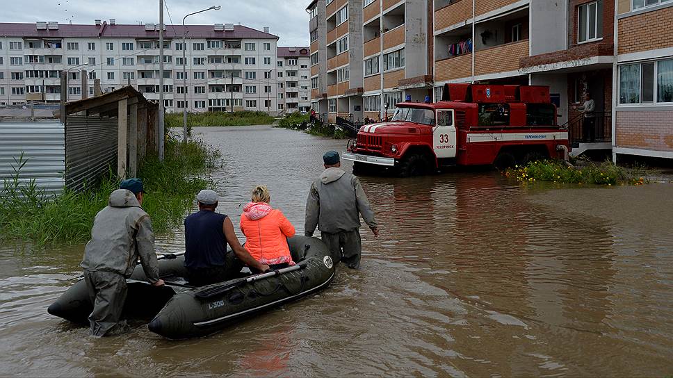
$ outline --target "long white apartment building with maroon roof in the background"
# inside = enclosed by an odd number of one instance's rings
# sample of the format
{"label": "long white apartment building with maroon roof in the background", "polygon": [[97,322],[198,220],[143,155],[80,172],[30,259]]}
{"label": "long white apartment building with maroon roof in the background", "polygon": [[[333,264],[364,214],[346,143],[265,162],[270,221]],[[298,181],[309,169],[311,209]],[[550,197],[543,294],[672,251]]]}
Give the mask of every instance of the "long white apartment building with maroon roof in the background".
{"label": "long white apartment building with maroon roof in the background", "polygon": [[[166,110],[276,114],[278,37],[264,29],[166,25]],[[69,100],[80,99],[83,91],[93,94],[94,79],[101,80],[104,91],[131,84],[158,100],[159,28],[121,25],[114,19],[90,25],[0,23],[0,105],[59,101],[62,71],[68,74]],[[82,88],[82,74],[88,76],[87,88]]]}

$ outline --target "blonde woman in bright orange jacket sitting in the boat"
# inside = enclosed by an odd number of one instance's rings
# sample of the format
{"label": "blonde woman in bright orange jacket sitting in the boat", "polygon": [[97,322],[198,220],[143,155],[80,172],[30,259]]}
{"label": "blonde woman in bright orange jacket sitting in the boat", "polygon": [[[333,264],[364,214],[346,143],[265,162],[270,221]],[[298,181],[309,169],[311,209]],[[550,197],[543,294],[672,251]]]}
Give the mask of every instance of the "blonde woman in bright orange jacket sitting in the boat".
{"label": "blonde woman in bright orange jacket sitting in the boat", "polygon": [[266,186],[252,190],[252,202],[245,205],[241,215],[241,231],[248,240],[245,249],[260,263],[271,269],[295,265],[287,245],[287,238],[295,229],[283,213],[271,208],[271,197]]}

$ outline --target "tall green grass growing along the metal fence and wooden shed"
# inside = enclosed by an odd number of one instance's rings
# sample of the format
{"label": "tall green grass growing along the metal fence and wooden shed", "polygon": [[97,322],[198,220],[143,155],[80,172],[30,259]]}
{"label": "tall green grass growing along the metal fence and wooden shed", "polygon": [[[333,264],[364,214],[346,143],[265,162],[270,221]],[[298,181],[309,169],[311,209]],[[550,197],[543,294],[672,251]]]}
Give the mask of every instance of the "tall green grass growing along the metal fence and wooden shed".
{"label": "tall green grass growing along the metal fence and wooden shed", "polygon": [[[202,142],[168,139],[165,159],[147,158],[138,171],[147,195],[143,208],[152,219],[155,233],[165,233],[182,222],[198,190],[212,182],[195,177],[216,164],[218,154]],[[0,191],[0,240],[26,240],[35,245],[85,243],[90,238],[95,215],[108,203],[119,181],[108,172],[96,186],[81,192],[65,189],[60,195],[46,195],[35,180],[22,181],[21,157],[11,179]]]}

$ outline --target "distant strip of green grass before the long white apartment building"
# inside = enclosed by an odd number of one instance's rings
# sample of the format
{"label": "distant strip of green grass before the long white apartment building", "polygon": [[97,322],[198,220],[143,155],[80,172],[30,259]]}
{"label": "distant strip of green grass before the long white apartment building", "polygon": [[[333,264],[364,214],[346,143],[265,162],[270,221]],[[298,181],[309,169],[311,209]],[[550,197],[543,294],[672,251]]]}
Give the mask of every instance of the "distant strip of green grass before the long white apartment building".
{"label": "distant strip of green grass before the long white apartment building", "polygon": [[[253,124],[272,124],[274,118],[264,112],[206,112],[188,113],[187,126],[249,126]],[[182,127],[182,113],[168,113],[164,119],[166,127]]]}

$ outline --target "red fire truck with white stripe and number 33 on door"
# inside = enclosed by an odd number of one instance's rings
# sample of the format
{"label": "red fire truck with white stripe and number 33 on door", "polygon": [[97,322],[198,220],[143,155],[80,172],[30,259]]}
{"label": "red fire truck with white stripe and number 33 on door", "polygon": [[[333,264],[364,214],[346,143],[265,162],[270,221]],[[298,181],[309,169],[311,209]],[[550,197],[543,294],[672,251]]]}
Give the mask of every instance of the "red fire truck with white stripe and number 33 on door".
{"label": "red fire truck with white stripe and number 33 on door", "polygon": [[435,104],[396,107],[390,122],[366,124],[348,142],[342,157],[354,172],[414,176],[451,165],[567,158],[568,132],[558,126],[546,86],[446,84]]}

